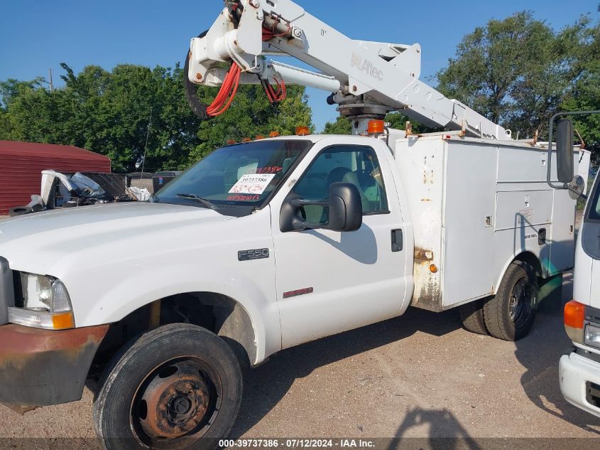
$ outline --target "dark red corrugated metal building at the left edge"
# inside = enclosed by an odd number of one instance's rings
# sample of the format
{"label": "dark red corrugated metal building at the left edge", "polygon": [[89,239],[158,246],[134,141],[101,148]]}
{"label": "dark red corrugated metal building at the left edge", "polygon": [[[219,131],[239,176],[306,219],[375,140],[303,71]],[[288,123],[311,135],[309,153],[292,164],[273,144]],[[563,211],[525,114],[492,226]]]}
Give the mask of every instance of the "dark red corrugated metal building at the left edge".
{"label": "dark red corrugated metal building at the left edge", "polygon": [[70,145],[0,141],[0,215],[40,193],[42,171],[110,173],[108,156]]}

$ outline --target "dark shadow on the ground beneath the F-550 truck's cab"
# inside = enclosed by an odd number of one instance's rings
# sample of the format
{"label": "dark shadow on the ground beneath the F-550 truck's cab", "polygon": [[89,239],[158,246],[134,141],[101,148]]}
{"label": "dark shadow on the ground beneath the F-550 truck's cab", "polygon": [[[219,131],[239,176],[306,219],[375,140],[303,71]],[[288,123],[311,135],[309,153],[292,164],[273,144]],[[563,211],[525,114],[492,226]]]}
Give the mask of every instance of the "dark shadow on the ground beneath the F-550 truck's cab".
{"label": "dark shadow on the ground beneath the F-550 truck's cab", "polygon": [[244,399],[231,436],[242,436],[290,390],[297,378],[316,368],[358,355],[413,335],[417,331],[443,336],[460,328],[456,311],[433,313],[409,308],[403,316],[374,323],[273,355],[257,368],[244,370]]}

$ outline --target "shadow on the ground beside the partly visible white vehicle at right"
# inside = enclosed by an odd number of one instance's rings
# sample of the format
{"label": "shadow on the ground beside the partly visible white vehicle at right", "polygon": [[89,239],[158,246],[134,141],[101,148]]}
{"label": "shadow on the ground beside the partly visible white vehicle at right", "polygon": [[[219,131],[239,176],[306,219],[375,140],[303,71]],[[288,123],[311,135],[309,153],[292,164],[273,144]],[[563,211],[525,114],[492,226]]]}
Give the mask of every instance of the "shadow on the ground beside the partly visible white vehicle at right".
{"label": "shadow on the ground beside the partly visible white vehicle at right", "polygon": [[[560,392],[558,360],[572,351],[572,343],[564,333],[562,309],[572,299],[572,274],[564,276],[560,289],[540,301],[533,329],[515,343],[515,355],[526,368],[520,379],[531,402],[548,414],[563,419],[586,431],[599,434],[600,419],[570,405]],[[558,331],[558,332],[557,332]]]}

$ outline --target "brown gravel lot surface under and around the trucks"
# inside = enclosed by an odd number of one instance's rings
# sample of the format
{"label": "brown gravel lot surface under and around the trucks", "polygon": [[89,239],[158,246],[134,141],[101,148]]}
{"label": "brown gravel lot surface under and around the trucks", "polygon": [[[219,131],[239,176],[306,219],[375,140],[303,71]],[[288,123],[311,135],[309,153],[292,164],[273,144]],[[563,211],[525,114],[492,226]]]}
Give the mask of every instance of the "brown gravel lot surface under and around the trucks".
{"label": "brown gravel lot surface under and around the trucks", "polygon": [[[570,349],[561,311],[570,294],[566,279],[562,301],[542,303],[533,332],[517,343],[464,331],[455,311],[409,309],[285,350],[244,374],[233,434],[599,436],[600,419],[567,404],[558,387],[558,358]],[[1,437],[93,435],[89,390],[80,402],[24,416],[0,407]]]}

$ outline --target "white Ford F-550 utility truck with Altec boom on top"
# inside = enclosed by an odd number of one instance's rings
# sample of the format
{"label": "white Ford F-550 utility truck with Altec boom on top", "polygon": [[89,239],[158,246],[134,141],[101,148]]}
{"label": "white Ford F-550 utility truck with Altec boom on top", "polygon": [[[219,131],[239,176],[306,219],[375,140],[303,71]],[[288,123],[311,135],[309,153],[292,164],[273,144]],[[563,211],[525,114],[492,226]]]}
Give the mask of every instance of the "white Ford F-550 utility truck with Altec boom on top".
{"label": "white Ford F-550 utility truck with Altec boom on top", "polygon": [[[538,280],[574,259],[575,200],[545,183],[545,146],[420,82],[419,45],[353,41],[292,1],[227,1],[201,36],[186,63],[200,116],[227,109],[239,82],[272,101],[292,82],[334,91],[354,135],[231,144],[149,203],[0,223],[0,402],[78,400],[98,377],[107,448],[198,448],[236,419],[240,363],[283,348],[411,304],[459,306],[476,333],[528,333]],[[192,82],[222,90],[207,107]],[[394,110],[449,131],[386,129]],[[587,151],[572,159],[587,173]]]}

